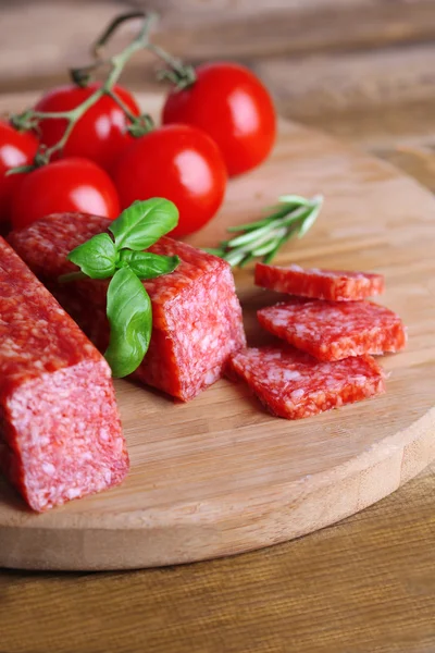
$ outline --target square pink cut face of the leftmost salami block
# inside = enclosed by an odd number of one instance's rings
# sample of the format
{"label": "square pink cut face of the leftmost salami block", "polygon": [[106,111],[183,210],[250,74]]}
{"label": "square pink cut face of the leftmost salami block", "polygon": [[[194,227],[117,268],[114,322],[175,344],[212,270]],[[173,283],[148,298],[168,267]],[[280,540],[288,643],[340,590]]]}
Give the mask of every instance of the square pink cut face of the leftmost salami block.
{"label": "square pink cut face of the leftmost salami block", "polygon": [[116,485],[128,470],[102,361],[85,360],[24,383],[5,402],[4,417],[9,476],[34,510]]}

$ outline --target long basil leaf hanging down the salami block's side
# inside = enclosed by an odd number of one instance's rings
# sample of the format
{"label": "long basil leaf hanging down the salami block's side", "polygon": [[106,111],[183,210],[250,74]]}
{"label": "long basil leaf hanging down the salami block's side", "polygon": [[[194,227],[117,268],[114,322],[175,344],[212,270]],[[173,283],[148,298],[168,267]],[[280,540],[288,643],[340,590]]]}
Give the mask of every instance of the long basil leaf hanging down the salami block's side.
{"label": "long basil leaf hanging down the salami block's side", "polygon": [[128,268],[117,270],[108,288],[110,344],[104,354],[115,378],[134,372],[151,337],[151,300],[141,281]]}

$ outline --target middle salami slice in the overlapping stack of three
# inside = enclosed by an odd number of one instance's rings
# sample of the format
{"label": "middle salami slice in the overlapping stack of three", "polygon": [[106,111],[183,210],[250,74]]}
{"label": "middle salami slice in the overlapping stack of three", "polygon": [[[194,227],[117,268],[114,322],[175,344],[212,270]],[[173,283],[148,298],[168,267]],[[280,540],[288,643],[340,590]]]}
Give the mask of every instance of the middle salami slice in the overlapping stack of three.
{"label": "middle salami slice in the overlapping stack of three", "polygon": [[295,299],[257,316],[264,329],[319,360],[398,352],[407,341],[400,318],[372,301]]}

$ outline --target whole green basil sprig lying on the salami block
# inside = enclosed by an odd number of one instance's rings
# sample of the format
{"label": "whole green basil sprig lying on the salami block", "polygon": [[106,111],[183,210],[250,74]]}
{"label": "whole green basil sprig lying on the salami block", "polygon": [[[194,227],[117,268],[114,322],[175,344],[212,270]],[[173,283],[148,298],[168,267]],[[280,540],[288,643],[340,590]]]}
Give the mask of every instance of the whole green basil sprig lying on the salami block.
{"label": "whole green basil sprig lying on the salami block", "polygon": [[142,251],[178,222],[178,209],[167,199],[135,201],[111,222],[107,233],[97,234],[70,251],[67,258],[80,272],[60,276],[60,281],[109,279],[107,316],[110,344],[104,354],[115,378],[126,377],[141,364],[152,331],[151,300],[141,283],[173,272],[177,256]]}

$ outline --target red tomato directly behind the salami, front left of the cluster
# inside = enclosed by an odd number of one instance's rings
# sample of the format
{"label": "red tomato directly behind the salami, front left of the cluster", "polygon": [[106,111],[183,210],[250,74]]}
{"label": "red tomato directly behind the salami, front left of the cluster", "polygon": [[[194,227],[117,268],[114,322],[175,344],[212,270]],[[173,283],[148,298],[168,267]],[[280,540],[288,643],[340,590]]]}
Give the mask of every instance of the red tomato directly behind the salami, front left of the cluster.
{"label": "red tomato directly behind the salami, front left of the cluster", "polygon": [[12,200],[11,220],[22,229],[50,213],[77,211],[114,219],[120,200],[112,180],[94,161],[53,161],[25,176]]}

